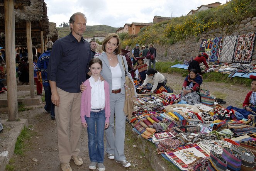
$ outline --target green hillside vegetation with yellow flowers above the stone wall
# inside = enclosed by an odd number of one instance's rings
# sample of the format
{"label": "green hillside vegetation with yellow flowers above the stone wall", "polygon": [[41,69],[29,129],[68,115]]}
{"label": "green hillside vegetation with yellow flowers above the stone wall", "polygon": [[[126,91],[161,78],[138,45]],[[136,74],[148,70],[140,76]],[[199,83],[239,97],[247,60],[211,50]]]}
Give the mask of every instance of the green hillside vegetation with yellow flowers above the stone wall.
{"label": "green hillside vegetation with yellow flowers above the stone wall", "polygon": [[[139,44],[174,44],[184,40],[186,36],[198,37],[204,31],[227,26],[226,33],[232,33],[234,27],[241,20],[256,16],[256,0],[231,0],[217,8],[210,8],[193,15],[175,17],[170,21],[156,23],[143,27],[137,36],[120,34],[122,47],[134,47]],[[230,27],[229,27],[230,26]]]}

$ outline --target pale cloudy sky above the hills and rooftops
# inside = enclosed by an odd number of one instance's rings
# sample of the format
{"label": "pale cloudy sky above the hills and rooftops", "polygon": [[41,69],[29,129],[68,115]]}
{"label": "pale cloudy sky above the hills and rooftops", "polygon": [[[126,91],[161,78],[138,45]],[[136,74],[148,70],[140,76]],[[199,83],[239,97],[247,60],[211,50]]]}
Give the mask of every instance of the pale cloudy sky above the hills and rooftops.
{"label": "pale cloudy sky above the hills and rooftops", "polygon": [[75,12],[85,14],[87,25],[123,27],[125,23],[153,22],[155,15],[180,17],[214,2],[224,4],[226,0],[45,0],[49,21],[57,27]]}

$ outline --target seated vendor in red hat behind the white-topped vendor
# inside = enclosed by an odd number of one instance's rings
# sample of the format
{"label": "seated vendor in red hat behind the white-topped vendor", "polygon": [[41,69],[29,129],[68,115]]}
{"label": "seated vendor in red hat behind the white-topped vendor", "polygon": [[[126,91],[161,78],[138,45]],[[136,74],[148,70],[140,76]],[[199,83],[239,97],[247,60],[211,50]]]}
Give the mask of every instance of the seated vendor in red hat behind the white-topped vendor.
{"label": "seated vendor in red hat behind the white-topped vendor", "polygon": [[143,83],[146,79],[146,71],[147,71],[147,64],[144,64],[145,57],[139,57],[137,59],[137,65],[134,66],[134,68],[130,71],[132,78],[134,80],[139,81],[139,83]]}

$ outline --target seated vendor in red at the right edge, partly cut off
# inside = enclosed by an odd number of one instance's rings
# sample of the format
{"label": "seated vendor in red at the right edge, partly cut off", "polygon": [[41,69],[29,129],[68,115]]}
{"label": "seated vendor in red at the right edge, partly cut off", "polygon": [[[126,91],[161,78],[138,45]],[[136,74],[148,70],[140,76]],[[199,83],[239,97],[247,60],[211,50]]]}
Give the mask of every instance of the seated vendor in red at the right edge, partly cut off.
{"label": "seated vendor in red at the right edge, partly cut off", "polygon": [[250,75],[250,78],[253,80],[251,82],[251,91],[247,93],[244,103],[242,103],[242,107],[244,108],[237,108],[237,107],[232,107],[228,106],[228,110],[236,110],[237,112],[241,113],[244,118],[247,118],[248,115],[255,115],[256,113],[256,76]]}

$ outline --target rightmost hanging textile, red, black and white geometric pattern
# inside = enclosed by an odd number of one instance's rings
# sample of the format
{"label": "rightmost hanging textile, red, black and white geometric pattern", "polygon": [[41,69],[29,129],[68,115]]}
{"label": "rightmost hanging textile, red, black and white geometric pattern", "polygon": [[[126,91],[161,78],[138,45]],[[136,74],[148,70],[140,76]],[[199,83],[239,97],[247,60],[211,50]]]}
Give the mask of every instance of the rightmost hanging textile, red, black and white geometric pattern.
{"label": "rightmost hanging textile, red, black and white geometric pattern", "polygon": [[255,34],[242,34],[237,37],[233,63],[250,63],[253,55]]}

